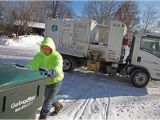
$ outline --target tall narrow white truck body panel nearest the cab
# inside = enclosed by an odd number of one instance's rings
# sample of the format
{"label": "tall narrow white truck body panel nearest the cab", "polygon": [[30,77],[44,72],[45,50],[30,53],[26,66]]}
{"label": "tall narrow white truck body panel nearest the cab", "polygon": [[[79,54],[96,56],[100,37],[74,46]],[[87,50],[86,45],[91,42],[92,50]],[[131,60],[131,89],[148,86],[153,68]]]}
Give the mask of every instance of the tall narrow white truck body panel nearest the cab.
{"label": "tall narrow white truck body panel nearest the cab", "polygon": [[112,21],[108,37],[107,61],[119,62],[122,49],[123,37],[127,32],[124,23],[120,21]]}

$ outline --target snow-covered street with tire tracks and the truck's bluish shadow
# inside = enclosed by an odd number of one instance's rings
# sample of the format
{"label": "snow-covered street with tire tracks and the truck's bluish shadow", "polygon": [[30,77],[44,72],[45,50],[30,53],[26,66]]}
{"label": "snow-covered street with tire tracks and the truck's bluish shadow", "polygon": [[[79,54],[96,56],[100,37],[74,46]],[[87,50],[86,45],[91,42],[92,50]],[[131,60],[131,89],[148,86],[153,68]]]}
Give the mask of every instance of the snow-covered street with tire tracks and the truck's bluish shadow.
{"label": "snow-covered street with tire tracks and the truck's bluish shadow", "polygon": [[[31,46],[0,45],[0,61],[26,64],[38,51]],[[58,98],[64,105],[49,120],[158,120],[160,81],[135,88],[124,77],[111,77],[85,68],[65,73]],[[38,119],[37,110],[36,119]]]}

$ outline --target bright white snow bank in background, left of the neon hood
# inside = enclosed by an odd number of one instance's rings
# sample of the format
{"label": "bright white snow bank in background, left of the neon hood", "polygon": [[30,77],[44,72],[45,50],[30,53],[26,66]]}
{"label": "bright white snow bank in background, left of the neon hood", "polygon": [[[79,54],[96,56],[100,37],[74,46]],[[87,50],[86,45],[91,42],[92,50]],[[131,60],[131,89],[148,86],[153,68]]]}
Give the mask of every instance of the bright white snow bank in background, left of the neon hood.
{"label": "bright white snow bank in background, left of the neon hood", "polygon": [[44,38],[38,35],[24,35],[17,38],[0,37],[0,45],[6,46],[39,46]]}

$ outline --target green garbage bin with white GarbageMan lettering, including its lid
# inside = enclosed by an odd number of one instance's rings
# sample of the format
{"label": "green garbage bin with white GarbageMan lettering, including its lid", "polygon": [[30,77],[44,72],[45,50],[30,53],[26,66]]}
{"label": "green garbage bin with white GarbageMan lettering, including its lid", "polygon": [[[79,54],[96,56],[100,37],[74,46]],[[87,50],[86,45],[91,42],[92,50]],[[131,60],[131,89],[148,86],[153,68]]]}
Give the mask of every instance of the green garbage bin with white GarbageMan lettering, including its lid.
{"label": "green garbage bin with white GarbageMan lettering, including its lid", "polygon": [[34,119],[46,81],[39,72],[0,63],[0,119]]}

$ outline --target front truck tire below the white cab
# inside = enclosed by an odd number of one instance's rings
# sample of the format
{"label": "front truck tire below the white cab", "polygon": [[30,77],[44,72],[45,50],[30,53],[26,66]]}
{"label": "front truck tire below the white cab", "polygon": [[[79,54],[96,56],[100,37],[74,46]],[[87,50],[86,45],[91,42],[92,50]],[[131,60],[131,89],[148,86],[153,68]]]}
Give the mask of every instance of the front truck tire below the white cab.
{"label": "front truck tire below the white cab", "polygon": [[141,88],[148,84],[150,77],[143,69],[136,69],[131,73],[131,79],[135,87]]}

